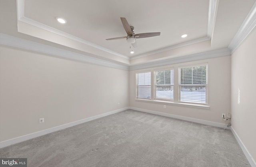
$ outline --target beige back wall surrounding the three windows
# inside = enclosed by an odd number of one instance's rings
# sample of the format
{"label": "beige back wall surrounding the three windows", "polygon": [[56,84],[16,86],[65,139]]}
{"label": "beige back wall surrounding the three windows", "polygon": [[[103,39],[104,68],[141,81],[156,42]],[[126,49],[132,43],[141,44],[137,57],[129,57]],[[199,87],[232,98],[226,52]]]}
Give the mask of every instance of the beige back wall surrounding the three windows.
{"label": "beige back wall surrounding the three windows", "polygon": [[[177,90],[178,84],[178,66],[186,66],[193,64],[201,64],[208,62],[208,105],[210,109],[184,107],[172,104],[162,104],[154,102],[135,101],[136,98],[136,72],[154,70],[159,68],[174,67],[174,91]],[[152,83],[152,82],[151,82]],[[174,93],[174,97],[178,97],[178,92]],[[176,98],[177,99],[177,98]],[[166,108],[163,107],[166,105]],[[199,60],[193,62],[173,64],[169,66],[161,66],[156,68],[149,68],[143,70],[130,71],[130,107],[140,109],[148,109],[163,113],[191,117],[196,119],[203,119],[206,121],[213,121],[218,123],[224,122],[222,113],[230,112],[230,56],[222,56],[218,58],[211,58],[206,60]]]}

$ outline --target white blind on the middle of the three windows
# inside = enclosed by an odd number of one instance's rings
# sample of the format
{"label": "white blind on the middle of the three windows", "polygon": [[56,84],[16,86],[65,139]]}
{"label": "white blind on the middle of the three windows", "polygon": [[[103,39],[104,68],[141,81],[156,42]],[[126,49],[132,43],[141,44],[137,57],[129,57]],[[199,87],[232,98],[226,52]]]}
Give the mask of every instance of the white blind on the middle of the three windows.
{"label": "white blind on the middle of the three windows", "polygon": [[174,70],[154,71],[154,99],[173,100]]}

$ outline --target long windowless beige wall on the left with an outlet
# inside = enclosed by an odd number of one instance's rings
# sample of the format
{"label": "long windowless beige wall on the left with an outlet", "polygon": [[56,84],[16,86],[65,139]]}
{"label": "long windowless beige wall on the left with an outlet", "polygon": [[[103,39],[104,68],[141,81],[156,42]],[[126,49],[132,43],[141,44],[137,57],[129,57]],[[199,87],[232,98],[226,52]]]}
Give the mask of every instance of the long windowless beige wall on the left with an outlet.
{"label": "long windowless beige wall on the left with an outlet", "polygon": [[3,45],[0,56],[0,141],[128,107],[128,71]]}

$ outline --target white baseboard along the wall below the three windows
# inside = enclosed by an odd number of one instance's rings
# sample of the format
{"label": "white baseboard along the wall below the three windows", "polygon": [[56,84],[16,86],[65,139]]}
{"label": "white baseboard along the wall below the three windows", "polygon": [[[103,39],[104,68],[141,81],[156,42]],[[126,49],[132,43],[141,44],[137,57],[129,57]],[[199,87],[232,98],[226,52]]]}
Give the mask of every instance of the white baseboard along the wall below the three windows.
{"label": "white baseboard along the wall below the three windows", "polygon": [[201,123],[201,124],[204,124],[204,125],[211,125],[211,126],[230,129],[229,127],[225,126],[226,124],[224,124],[224,123],[205,121],[205,120],[202,120],[202,119],[184,117],[184,116],[180,116],[180,115],[173,115],[173,114],[169,114],[169,113],[162,113],[162,112],[158,112],[158,111],[151,111],[151,110],[148,110],[148,109],[141,109],[141,108],[135,108],[135,107],[130,107],[130,109],[137,110],[137,111],[142,111],[142,112],[146,112],[146,113],[152,113],[152,114],[156,114],[156,115],[162,115],[162,116],[165,116],[165,117],[182,119],[182,120],[190,121],[190,122]]}

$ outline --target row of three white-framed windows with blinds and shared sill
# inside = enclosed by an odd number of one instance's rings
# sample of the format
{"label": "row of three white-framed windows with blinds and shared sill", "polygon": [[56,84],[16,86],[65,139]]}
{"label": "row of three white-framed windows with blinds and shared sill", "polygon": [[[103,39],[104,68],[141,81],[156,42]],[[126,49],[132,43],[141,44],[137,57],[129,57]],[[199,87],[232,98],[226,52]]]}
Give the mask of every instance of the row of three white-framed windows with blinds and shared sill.
{"label": "row of three white-framed windows with blinds and shared sill", "polygon": [[136,100],[209,108],[208,64],[137,72]]}

